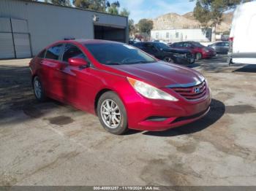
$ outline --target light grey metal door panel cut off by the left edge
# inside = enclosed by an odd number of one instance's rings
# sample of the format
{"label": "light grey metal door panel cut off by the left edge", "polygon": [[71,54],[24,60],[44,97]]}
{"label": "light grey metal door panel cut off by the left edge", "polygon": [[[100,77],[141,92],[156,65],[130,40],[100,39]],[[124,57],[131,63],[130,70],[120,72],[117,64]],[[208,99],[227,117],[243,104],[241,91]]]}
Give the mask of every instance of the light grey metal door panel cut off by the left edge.
{"label": "light grey metal door panel cut off by the left edge", "polygon": [[15,58],[11,33],[0,33],[0,59]]}

